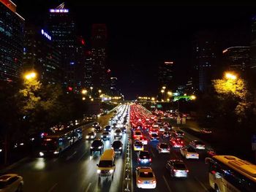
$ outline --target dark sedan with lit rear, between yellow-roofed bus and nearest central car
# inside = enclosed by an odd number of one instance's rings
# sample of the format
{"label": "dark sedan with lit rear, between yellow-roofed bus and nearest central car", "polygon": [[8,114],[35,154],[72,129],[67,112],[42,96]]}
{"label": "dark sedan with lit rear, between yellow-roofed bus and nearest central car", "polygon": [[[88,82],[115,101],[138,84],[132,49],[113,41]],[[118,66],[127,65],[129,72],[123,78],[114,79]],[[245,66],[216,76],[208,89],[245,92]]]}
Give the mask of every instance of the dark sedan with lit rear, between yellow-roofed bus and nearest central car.
{"label": "dark sedan with lit rear, between yellow-roofed bus and nearest central car", "polygon": [[166,169],[170,172],[171,177],[187,177],[189,169],[182,160],[171,159],[165,165]]}

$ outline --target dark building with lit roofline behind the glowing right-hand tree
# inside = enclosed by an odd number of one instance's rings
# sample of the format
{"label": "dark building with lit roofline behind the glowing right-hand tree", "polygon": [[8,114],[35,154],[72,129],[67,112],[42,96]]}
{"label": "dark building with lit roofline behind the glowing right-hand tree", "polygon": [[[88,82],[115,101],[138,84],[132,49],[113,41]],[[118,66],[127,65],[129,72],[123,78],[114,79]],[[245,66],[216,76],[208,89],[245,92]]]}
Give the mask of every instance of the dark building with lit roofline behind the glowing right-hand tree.
{"label": "dark building with lit roofline behind the glowing right-hand tree", "polygon": [[228,47],[222,51],[222,56],[225,64],[225,69],[244,74],[249,68],[250,62],[250,47],[236,46]]}

